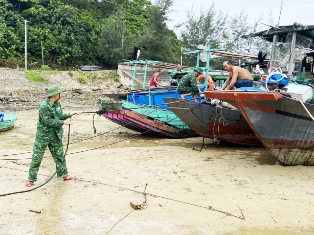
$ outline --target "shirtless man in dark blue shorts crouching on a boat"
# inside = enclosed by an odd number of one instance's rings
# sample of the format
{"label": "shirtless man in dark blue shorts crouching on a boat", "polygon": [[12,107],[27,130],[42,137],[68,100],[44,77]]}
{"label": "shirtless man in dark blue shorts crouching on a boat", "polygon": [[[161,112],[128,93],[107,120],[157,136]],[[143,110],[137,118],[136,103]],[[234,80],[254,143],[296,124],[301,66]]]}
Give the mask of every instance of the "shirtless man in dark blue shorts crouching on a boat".
{"label": "shirtless man in dark blue shorts crouching on a boat", "polygon": [[235,90],[240,87],[252,87],[253,76],[252,74],[239,66],[233,66],[230,60],[223,63],[224,69],[229,72],[228,78],[222,85],[222,90]]}

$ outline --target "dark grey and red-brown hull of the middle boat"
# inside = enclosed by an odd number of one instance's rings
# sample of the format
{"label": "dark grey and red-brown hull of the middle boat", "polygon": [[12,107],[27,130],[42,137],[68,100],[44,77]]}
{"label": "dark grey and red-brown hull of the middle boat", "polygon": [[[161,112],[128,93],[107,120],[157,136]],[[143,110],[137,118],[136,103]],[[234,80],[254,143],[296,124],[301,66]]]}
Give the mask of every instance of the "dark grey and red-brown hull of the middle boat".
{"label": "dark grey and red-brown hull of the middle boat", "polygon": [[[171,103],[181,99],[164,100]],[[200,136],[243,145],[263,145],[239,110],[189,100],[169,104],[169,109]]]}

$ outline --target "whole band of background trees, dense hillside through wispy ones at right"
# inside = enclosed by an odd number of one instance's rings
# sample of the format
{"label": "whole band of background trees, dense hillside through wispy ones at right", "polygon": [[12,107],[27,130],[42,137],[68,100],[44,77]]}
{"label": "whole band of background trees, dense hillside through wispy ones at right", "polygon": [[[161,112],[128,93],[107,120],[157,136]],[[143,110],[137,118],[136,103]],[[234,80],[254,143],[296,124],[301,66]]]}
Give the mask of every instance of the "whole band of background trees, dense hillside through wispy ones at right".
{"label": "whole band of background trees, dense hillside through wispy ones at right", "polygon": [[[256,30],[244,11],[235,16],[217,12],[214,3],[195,14],[187,10],[178,39],[167,27],[174,0],[0,0],[0,66],[24,67],[24,22],[30,67],[66,69],[75,65],[116,67],[123,59],[180,61],[184,51],[199,44],[244,52],[242,34]],[[232,29],[232,30],[231,30]],[[260,46],[260,45],[259,45]],[[220,59],[221,60],[221,59]],[[215,66],[217,62],[217,66]],[[183,64],[195,66],[195,56]],[[220,61],[211,60],[219,67]],[[200,64],[204,66],[204,63]]]}

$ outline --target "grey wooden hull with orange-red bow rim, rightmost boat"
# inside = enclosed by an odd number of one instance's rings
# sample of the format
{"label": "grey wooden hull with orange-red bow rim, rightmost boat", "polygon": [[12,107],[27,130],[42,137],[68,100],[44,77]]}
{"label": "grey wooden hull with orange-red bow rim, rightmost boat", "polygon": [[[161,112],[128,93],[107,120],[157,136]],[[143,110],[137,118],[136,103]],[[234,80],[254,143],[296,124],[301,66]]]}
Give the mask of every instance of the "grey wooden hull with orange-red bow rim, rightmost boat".
{"label": "grey wooden hull with orange-red bow rim, rightmost boat", "polygon": [[206,91],[236,105],[256,136],[282,165],[314,165],[314,105],[278,92]]}

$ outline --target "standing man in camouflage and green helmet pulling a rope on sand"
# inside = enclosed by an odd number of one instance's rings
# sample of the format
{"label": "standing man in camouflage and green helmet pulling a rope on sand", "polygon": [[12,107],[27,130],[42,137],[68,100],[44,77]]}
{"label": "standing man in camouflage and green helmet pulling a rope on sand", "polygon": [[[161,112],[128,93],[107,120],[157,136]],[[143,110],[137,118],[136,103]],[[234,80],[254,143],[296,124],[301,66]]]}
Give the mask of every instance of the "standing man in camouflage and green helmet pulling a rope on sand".
{"label": "standing man in camouflage and green helmet pulling a rope on sand", "polygon": [[71,114],[62,114],[61,105],[58,101],[62,91],[65,90],[59,86],[51,86],[47,90],[48,98],[41,102],[38,107],[39,119],[34,143],[34,153],[32,156],[32,163],[30,164],[29,181],[26,183],[27,187],[32,186],[34,181],[37,180],[36,176],[38,169],[47,146],[56,163],[56,168],[61,165],[57,172],[57,177],[63,178],[63,180],[76,179],[76,177],[68,175],[65,160],[62,163],[64,153],[61,139],[63,137],[63,124],[74,124],[74,120],[68,118],[72,115],[79,115],[81,112],[74,111]]}

